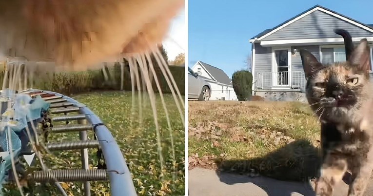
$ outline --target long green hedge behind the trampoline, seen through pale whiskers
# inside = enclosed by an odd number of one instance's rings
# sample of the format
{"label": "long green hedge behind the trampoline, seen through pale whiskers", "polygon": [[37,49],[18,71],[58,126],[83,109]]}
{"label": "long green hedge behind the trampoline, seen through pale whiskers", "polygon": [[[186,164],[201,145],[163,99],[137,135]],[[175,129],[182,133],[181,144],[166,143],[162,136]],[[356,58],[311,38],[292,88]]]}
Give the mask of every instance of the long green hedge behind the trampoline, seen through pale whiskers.
{"label": "long green hedge behind the trampoline, seen through pale whiskers", "polygon": [[[35,89],[50,90],[64,95],[71,95],[77,93],[84,93],[90,91],[107,91],[107,90],[120,90],[120,65],[116,63],[114,66],[107,68],[110,78],[105,81],[100,70],[90,70],[84,72],[59,72],[59,73],[46,73],[36,75],[34,77]],[[184,81],[185,71],[182,66],[169,66],[170,72],[175,79],[177,87],[182,95],[184,95]],[[171,93],[167,85],[166,79],[159,67],[155,67],[157,78],[163,93]],[[140,74],[140,71],[139,71]],[[2,86],[4,78],[4,71],[0,74],[0,85]],[[140,80],[141,82],[142,80]],[[152,80],[153,89],[158,92],[155,79]],[[28,85],[30,86],[30,85]],[[131,91],[131,78],[128,64],[125,65],[124,70],[124,89]],[[142,89],[142,84],[141,84]],[[135,88],[137,90],[137,88]],[[143,90],[143,89],[142,89]]]}

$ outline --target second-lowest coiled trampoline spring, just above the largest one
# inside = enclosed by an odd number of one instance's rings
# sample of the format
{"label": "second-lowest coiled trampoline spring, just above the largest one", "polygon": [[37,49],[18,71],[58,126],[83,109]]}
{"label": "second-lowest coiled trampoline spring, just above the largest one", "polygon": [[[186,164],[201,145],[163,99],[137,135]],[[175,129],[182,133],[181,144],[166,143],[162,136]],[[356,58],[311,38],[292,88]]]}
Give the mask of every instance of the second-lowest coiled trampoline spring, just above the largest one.
{"label": "second-lowest coiled trampoline spring, just above the largest one", "polygon": [[79,150],[84,148],[97,148],[99,146],[98,140],[77,140],[47,143],[46,148],[50,151],[56,150]]}

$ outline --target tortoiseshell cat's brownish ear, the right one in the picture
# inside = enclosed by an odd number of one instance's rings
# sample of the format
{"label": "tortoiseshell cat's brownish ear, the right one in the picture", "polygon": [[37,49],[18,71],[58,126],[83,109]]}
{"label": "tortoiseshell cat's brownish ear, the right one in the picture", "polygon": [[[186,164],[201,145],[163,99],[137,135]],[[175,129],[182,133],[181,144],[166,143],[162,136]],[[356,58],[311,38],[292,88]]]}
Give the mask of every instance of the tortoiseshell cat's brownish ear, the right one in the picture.
{"label": "tortoiseshell cat's brownish ear, the right one in the picture", "polygon": [[361,39],[351,54],[350,64],[356,66],[358,71],[369,73],[371,69],[371,54],[368,47],[368,40]]}

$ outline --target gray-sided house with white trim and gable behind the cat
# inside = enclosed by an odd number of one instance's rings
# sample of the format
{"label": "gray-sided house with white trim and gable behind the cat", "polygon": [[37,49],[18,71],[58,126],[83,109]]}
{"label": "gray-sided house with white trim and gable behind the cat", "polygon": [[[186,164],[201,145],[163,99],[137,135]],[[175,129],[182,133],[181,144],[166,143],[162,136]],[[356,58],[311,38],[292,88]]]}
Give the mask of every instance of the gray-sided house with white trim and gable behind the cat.
{"label": "gray-sided house with white trim and gable behind the cat", "polygon": [[253,95],[304,100],[306,80],[299,50],[310,51],[322,63],[346,60],[343,38],[334,33],[336,28],[349,31],[354,43],[367,38],[372,53],[373,25],[320,5],[251,38]]}

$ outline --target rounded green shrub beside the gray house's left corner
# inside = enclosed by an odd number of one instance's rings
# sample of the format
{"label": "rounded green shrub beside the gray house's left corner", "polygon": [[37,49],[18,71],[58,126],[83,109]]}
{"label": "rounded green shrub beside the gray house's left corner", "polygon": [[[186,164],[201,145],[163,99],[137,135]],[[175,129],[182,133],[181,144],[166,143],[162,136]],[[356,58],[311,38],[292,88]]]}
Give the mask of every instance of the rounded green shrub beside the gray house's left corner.
{"label": "rounded green shrub beside the gray house's left corner", "polygon": [[239,101],[250,100],[253,75],[248,70],[236,71],[232,76],[232,83]]}

